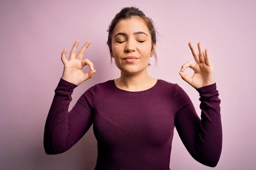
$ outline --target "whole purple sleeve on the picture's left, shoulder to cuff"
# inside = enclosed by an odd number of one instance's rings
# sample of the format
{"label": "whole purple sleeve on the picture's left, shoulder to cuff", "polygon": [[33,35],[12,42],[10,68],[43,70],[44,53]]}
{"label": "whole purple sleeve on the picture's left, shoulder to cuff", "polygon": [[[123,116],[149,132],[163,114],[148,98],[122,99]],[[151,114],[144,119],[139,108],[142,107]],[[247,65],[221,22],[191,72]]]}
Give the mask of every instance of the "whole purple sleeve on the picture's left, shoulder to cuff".
{"label": "whole purple sleeve on the picture's left, shoulder to cuff", "polygon": [[58,154],[69,150],[93,123],[93,99],[96,86],[84,92],[69,112],[71,95],[77,85],[60,79],[44,128],[44,150]]}

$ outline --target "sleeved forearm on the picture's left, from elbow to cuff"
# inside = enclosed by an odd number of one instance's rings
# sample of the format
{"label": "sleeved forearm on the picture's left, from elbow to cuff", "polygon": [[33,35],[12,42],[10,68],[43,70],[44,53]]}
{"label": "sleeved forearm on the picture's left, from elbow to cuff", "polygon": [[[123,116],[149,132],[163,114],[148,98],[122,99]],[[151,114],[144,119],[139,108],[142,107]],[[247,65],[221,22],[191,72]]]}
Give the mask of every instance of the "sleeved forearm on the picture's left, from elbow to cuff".
{"label": "sleeved forearm on the picture's left, from elbow to cuff", "polygon": [[60,81],[55,89],[44,129],[44,149],[47,154],[57,154],[63,150],[68,134],[69,105],[73,88]]}

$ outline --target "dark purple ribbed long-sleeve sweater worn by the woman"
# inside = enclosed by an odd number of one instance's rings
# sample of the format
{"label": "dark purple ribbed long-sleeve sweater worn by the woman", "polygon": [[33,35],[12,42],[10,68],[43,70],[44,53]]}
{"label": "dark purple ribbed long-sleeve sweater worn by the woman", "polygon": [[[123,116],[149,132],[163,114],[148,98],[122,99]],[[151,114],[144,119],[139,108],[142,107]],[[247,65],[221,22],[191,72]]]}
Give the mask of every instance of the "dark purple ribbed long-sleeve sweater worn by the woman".
{"label": "dark purple ribbed long-sleeve sweater worn by the woman", "polygon": [[190,155],[215,167],[222,149],[216,83],[197,89],[201,119],[186,92],[158,79],[144,91],[125,91],[108,80],[90,87],[68,111],[77,86],[60,79],[44,129],[47,154],[69,150],[93,125],[95,170],[169,170],[174,127]]}

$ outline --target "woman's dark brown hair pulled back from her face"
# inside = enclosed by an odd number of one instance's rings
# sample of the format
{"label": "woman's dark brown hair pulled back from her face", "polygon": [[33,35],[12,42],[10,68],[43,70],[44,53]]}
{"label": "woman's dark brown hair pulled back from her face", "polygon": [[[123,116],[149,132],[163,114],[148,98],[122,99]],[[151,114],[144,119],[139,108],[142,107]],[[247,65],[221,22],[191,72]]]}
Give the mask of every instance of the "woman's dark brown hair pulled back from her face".
{"label": "woman's dark brown hair pulled back from her face", "polygon": [[[108,48],[110,51],[111,63],[112,63],[112,57],[113,57],[112,48],[111,48],[111,34],[113,32],[113,29],[115,28],[116,24],[120,20],[129,19],[131,17],[141,18],[148,26],[148,30],[151,34],[151,44],[152,44],[151,51],[154,50],[155,61],[157,62],[157,53],[156,53],[155,49],[153,48],[153,45],[157,42],[157,38],[156,38],[157,31],[154,28],[153,20],[151,20],[151,18],[149,18],[149,17],[146,17],[145,14],[143,13],[143,11],[140,11],[139,8],[137,8],[137,7],[125,7],[125,8],[122,8],[121,11],[119,11],[119,13],[117,13],[115,15],[114,19],[111,21],[110,25],[108,26],[107,45],[108,45]],[[150,64],[148,64],[148,65],[150,65]]]}

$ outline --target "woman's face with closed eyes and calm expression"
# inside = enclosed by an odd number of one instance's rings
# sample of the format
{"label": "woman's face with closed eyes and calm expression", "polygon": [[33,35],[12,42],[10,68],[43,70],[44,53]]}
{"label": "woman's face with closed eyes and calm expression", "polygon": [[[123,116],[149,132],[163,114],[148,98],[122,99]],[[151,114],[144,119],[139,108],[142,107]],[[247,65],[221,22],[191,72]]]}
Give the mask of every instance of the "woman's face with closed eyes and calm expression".
{"label": "woman's face with closed eyes and calm expression", "polygon": [[[126,73],[135,74],[145,70],[154,54],[154,51],[151,51],[151,34],[148,27],[137,17],[120,20],[116,24],[111,45],[116,66]],[[137,59],[125,59],[126,57]]]}

